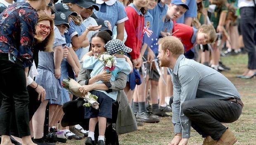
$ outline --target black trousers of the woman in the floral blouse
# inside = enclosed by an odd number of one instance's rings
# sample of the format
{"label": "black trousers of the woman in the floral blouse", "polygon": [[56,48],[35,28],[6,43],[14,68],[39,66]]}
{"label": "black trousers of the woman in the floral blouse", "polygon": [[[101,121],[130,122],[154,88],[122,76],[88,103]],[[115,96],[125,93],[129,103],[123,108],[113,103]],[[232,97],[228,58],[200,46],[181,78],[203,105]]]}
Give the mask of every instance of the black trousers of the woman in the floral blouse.
{"label": "black trousers of the woman in the floral blouse", "polygon": [[10,61],[0,60],[0,80],[0,135],[10,135],[12,116],[15,116],[19,136],[29,136],[29,100],[24,68]]}

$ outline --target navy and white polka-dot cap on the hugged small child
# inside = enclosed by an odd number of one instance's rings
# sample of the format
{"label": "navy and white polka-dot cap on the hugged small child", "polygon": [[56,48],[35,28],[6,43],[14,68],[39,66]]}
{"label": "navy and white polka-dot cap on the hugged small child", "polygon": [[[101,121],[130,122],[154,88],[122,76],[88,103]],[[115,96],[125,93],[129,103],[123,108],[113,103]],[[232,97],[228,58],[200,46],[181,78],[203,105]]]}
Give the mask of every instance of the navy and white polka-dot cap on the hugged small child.
{"label": "navy and white polka-dot cap on the hugged small child", "polygon": [[105,44],[104,47],[107,49],[107,52],[109,52],[109,54],[115,54],[119,51],[130,53],[133,50],[125,46],[125,44],[123,44],[123,42],[119,39],[110,40],[109,42],[107,42],[107,44]]}

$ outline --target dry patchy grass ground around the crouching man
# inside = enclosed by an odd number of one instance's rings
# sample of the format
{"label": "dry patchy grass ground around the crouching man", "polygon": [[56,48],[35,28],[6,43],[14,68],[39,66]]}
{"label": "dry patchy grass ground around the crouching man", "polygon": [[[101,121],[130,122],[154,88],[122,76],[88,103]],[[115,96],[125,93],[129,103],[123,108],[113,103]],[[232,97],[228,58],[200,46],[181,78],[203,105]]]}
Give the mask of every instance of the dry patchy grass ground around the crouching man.
{"label": "dry patchy grass ground around the crouching man", "polygon": [[[235,84],[242,96],[244,108],[240,118],[230,127],[237,136],[236,145],[256,145],[256,77],[251,80],[236,78],[247,67],[247,55],[227,56],[222,58],[225,65],[231,67],[229,72],[223,72]],[[173,124],[171,118],[161,118],[156,124],[145,123],[144,126],[132,133],[119,136],[120,145],[167,145],[173,138]],[[189,145],[201,145],[203,138],[193,129]],[[83,145],[84,140],[69,140],[68,145]]]}

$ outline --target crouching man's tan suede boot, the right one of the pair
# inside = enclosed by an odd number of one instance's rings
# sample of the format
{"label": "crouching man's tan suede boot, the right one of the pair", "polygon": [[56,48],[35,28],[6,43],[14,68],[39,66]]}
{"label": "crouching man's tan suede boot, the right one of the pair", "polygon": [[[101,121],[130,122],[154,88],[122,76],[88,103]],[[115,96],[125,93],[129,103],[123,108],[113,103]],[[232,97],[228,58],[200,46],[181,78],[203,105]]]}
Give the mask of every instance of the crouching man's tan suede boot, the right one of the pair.
{"label": "crouching man's tan suede boot, the right one of the pair", "polygon": [[216,145],[234,145],[237,142],[235,135],[227,129],[220,137]]}

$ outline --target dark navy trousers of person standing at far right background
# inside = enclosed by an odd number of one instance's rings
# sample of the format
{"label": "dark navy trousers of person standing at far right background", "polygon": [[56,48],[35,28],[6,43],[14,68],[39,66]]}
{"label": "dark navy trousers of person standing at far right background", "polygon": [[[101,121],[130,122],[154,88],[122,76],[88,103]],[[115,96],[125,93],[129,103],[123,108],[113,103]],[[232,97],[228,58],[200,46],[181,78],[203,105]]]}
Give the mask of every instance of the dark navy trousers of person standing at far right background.
{"label": "dark navy trousers of person standing at far right background", "polygon": [[256,19],[256,8],[240,8],[240,29],[243,36],[244,47],[248,52],[248,69],[256,69],[256,47],[254,43],[254,23]]}

